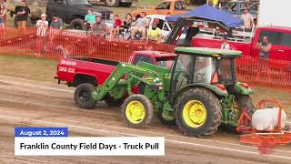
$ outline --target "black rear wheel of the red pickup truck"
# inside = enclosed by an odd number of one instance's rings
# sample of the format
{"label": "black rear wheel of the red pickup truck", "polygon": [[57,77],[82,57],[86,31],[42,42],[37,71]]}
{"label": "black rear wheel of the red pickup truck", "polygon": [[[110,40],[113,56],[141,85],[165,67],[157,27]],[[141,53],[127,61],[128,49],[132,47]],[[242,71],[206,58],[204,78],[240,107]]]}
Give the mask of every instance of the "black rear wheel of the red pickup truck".
{"label": "black rear wheel of the red pickup truck", "polygon": [[92,92],[95,87],[92,84],[84,83],[75,89],[75,103],[79,108],[95,108],[95,100],[92,97]]}

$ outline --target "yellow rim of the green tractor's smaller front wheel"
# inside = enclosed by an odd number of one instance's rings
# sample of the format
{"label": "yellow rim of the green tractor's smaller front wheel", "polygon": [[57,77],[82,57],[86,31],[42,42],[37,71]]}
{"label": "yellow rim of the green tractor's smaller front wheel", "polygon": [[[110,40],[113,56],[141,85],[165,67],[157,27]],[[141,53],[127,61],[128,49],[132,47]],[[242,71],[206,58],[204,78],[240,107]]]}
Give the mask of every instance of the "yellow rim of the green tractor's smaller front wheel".
{"label": "yellow rim of the green tractor's smaller front wheel", "polygon": [[131,123],[138,124],[146,118],[146,108],[139,101],[131,101],[126,106],[125,115]]}

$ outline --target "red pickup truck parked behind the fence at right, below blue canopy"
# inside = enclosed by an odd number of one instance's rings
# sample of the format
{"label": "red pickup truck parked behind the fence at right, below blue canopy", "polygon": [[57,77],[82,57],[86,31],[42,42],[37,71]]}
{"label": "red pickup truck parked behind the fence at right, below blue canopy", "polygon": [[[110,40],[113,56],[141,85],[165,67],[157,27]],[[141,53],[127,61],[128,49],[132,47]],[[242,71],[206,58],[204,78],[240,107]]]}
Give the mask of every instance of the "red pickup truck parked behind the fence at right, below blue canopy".
{"label": "red pickup truck parked behind the fence at right, below blue canopy", "polygon": [[[245,56],[259,56],[258,43],[263,36],[272,44],[269,57],[291,61],[291,27],[256,26],[252,32],[230,29],[223,24],[195,18],[179,18],[165,43],[178,46],[220,48],[221,36],[227,35],[230,48]],[[181,39],[182,38],[182,39]]]}

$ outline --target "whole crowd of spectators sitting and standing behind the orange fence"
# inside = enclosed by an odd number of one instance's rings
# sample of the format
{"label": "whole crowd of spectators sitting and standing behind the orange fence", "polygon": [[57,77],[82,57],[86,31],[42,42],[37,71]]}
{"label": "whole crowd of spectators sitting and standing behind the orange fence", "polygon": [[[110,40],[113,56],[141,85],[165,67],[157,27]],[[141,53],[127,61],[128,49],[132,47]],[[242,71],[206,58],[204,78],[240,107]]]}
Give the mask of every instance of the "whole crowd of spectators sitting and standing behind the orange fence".
{"label": "whole crowd of spectators sitting and standing behind the orange fence", "polygon": [[[17,15],[17,26],[20,29],[25,29],[27,26],[27,20],[30,15],[30,8],[25,0],[21,0],[22,5],[15,8],[15,14]],[[7,5],[5,0],[0,0],[0,32],[5,29],[5,19],[7,15]],[[49,35],[52,40],[57,35],[59,29],[62,29],[64,23],[61,18],[57,15],[53,15],[53,20],[50,25],[48,24],[47,15],[41,15],[41,19],[36,23],[36,36],[37,44],[35,54],[40,56],[45,36]],[[251,31],[255,25],[253,15],[248,13],[248,8],[244,8],[244,13],[240,17],[244,21],[244,26],[242,26],[246,31]],[[125,39],[141,39],[141,40],[151,40],[156,42],[162,42],[163,36],[162,31],[157,27],[158,22],[149,25],[149,21],[146,18],[146,13],[142,12],[140,17],[135,19],[131,14],[125,15],[125,19],[122,19],[119,15],[114,15],[114,25],[108,27],[102,20],[102,16],[98,13],[94,13],[92,10],[87,11],[85,15],[85,26],[87,30],[91,30],[92,36],[104,37],[113,40],[115,38],[125,38],[125,33],[127,38]],[[47,30],[53,31],[52,33],[47,33]],[[227,37],[222,36],[221,49],[231,49],[231,46],[227,42]],[[267,57],[271,49],[271,44],[268,37],[263,37],[262,43],[257,44],[257,48],[260,49],[260,56]]]}

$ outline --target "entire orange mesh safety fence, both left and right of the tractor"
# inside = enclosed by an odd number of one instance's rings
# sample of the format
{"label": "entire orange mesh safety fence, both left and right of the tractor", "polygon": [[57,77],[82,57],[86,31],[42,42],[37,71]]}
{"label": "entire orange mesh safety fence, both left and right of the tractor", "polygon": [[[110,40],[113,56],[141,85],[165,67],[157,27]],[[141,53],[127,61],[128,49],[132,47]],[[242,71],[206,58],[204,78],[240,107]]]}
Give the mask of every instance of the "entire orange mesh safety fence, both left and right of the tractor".
{"label": "entire orange mesh safety fence, both left and right of the tractor", "polygon": [[[45,58],[86,56],[126,62],[134,51],[173,53],[176,46],[149,41],[109,41],[74,30],[48,30],[45,37],[36,36],[35,28],[0,31],[0,54],[35,56],[39,47]],[[239,81],[253,86],[291,87],[291,61],[243,56],[236,59],[236,73]]]}

